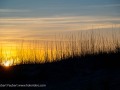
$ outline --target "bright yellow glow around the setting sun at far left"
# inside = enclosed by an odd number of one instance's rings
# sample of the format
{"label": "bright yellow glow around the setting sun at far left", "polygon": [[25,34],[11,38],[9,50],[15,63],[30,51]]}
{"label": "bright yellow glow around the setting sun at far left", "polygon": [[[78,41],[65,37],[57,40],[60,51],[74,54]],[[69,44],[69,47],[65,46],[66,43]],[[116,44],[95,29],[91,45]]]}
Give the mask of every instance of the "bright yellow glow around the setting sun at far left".
{"label": "bright yellow glow around the setting sun at far left", "polygon": [[12,66],[14,64],[14,60],[16,58],[17,51],[15,45],[8,42],[3,42],[0,47],[0,58],[1,58],[1,65],[5,67]]}

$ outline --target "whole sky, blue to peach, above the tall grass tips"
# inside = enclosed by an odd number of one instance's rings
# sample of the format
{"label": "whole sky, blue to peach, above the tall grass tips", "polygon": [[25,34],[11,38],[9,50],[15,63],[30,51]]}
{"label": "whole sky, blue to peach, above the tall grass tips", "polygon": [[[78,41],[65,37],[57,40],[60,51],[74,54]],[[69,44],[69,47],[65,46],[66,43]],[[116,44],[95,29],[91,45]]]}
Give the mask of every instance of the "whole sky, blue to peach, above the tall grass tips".
{"label": "whole sky, blue to peach, above the tall grass tips", "polygon": [[112,25],[120,27],[120,0],[0,0],[1,39],[46,39]]}

